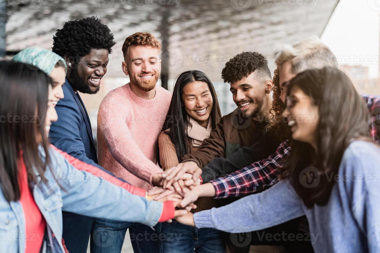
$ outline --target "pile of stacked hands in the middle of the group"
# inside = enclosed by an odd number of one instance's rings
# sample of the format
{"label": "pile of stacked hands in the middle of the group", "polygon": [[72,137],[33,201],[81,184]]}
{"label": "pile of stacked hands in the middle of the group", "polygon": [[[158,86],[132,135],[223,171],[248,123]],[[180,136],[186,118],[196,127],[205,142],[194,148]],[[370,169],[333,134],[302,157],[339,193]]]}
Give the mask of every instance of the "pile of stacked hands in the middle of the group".
{"label": "pile of stacked hands in the middle of the group", "polygon": [[[174,218],[185,225],[195,226],[193,214],[194,202],[200,196],[201,168],[195,162],[179,163],[163,173],[155,173],[153,185],[157,186],[148,192],[151,200],[173,201],[176,212]],[[171,222],[171,220],[168,220]]]}

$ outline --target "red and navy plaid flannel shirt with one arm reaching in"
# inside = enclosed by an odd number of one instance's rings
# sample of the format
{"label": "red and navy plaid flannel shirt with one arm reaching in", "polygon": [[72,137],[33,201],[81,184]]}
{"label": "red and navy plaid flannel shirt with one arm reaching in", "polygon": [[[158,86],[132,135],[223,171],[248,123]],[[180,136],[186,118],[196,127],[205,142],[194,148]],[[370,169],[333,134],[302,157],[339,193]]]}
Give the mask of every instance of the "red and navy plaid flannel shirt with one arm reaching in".
{"label": "red and navy plaid flannel shirt with one arm reaching in", "polygon": [[[380,144],[380,97],[363,96],[363,99],[369,110],[371,136]],[[282,168],[285,159],[290,156],[290,149],[288,140],[283,141],[267,159],[210,181],[215,188],[215,198],[245,196],[271,187],[280,180],[277,168]]]}

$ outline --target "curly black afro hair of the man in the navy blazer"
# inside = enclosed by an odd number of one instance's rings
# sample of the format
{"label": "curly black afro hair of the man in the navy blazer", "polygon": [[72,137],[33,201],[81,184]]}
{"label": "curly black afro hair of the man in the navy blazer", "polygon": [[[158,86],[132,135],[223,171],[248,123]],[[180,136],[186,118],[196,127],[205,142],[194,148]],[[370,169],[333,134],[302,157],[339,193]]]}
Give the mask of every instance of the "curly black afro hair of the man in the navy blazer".
{"label": "curly black afro hair of the man in the navy blazer", "polygon": [[111,53],[115,44],[108,26],[92,16],[66,22],[53,36],[52,50],[62,58],[83,57],[91,49],[107,49]]}

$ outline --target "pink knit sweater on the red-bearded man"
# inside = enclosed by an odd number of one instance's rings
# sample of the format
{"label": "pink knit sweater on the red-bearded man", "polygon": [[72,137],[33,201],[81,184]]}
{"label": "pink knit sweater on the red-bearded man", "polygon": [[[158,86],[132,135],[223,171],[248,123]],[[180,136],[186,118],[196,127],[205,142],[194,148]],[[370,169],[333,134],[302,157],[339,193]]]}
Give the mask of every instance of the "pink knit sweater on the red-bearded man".
{"label": "pink knit sweater on the red-bearded man", "polygon": [[157,86],[145,100],[129,83],[110,91],[98,112],[99,165],[132,185],[150,190],[157,165],[158,135],[169,110],[171,93]]}

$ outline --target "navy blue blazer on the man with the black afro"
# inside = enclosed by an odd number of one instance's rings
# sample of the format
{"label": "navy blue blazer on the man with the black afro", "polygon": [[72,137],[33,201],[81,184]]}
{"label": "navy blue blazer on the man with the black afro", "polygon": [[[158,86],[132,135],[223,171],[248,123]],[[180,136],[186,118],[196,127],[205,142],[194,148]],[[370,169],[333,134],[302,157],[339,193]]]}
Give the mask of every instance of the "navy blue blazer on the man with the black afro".
{"label": "navy blue blazer on the man with the black afro", "polygon": [[79,93],[74,92],[67,79],[62,88],[65,97],[55,106],[58,120],[50,127],[50,142],[69,155],[105,170],[98,165],[90,118]]}

